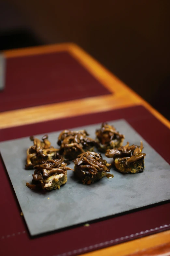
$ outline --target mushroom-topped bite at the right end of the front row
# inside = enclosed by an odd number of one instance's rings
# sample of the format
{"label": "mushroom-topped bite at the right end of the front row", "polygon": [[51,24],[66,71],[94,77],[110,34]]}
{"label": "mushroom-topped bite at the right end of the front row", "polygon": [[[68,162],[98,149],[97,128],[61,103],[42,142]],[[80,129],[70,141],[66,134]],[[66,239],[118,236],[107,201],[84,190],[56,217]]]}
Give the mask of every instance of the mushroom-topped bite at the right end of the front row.
{"label": "mushroom-topped bite at the right end of the front row", "polygon": [[144,170],[144,157],[142,153],[143,143],[140,141],[140,146],[127,143],[126,146],[119,148],[108,149],[106,157],[114,159],[114,165],[121,173],[139,173]]}

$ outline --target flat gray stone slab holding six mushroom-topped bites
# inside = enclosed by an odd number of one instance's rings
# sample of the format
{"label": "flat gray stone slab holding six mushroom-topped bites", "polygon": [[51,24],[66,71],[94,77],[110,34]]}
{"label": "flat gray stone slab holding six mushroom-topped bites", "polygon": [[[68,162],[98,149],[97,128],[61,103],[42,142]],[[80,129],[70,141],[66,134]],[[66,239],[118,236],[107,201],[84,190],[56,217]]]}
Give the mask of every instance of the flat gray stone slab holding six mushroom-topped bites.
{"label": "flat gray stone slab holding six mushroom-topped bites", "polygon": [[[0,143],[1,155],[31,235],[170,199],[169,164],[125,120],[109,123],[125,134],[125,143],[139,145],[142,139],[146,153],[143,173],[123,175],[112,168],[113,179],[105,177],[94,184],[84,185],[74,178],[73,171],[68,171],[68,181],[60,190],[35,192],[25,185],[27,181],[31,182],[33,170],[24,170],[26,149],[32,142],[27,137]],[[94,138],[94,131],[100,125],[81,129],[86,129]],[[56,146],[59,133],[49,133],[53,146]],[[103,158],[106,159],[104,155]],[[111,162],[111,159],[107,160]],[[70,167],[73,166],[72,163]]]}

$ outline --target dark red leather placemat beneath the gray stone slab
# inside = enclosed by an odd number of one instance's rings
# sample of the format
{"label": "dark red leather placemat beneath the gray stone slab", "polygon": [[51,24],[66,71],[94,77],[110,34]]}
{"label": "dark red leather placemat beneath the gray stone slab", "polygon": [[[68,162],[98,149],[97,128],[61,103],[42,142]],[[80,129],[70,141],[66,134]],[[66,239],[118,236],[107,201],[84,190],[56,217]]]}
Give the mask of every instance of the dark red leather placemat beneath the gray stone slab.
{"label": "dark red leather placemat beneath the gray stone slab", "polygon": [[[2,129],[0,140],[94,124],[99,120],[104,122],[120,118],[126,119],[167,162],[170,162],[169,129],[142,106]],[[158,130],[161,131],[161,136],[158,135]],[[0,212],[0,237],[4,256],[11,255],[14,251],[18,256],[23,254],[25,256],[30,254],[33,256],[76,255],[170,229],[170,203],[167,202],[94,222],[89,227],[78,226],[31,238],[23,217],[20,216],[21,210],[2,161],[0,161],[0,173],[3,181],[1,183],[0,206],[3,210]]]}

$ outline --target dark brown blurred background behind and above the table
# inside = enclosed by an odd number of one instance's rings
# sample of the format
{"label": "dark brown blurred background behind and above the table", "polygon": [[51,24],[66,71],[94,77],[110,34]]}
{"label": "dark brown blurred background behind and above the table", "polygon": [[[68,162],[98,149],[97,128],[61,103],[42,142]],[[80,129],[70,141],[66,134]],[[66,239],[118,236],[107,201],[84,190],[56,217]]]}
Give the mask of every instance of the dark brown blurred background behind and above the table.
{"label": "dark brown blurred background behind and above the table", "polygon": [[170,119],[169,0],[0,2],[0,50],[74,42]]}

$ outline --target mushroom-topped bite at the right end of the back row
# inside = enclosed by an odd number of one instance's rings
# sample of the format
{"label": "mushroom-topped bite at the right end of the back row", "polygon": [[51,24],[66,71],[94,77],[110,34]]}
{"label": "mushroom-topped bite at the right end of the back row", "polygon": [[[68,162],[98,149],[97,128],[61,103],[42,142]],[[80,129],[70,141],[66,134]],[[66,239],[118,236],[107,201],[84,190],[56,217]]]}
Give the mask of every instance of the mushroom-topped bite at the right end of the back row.
{"label": "mushroom-topped bite at the right end of the back row", "polygon": [[120,147],[123,143],[125,136],[120,134],[114,126],[103,123],[102,127],[96,130],[96,139],[98,142],[98,150],[106,152],[107,149]]}

